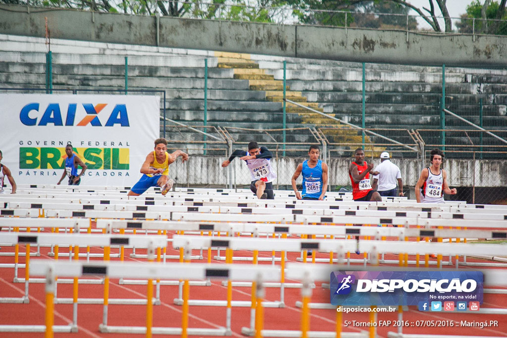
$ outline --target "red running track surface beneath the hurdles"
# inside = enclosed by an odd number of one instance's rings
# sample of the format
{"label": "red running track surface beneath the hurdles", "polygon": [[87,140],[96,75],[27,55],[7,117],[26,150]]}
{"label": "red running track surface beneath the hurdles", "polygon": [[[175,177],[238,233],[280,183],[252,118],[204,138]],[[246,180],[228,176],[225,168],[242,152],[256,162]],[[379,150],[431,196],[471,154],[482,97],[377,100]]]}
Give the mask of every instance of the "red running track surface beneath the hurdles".
{"label": "red running track surface beneath the hurdles", "polygon": [[[169,235],[170,236],[170,235]],[[20,252],[24,252],[24,246],[20,246]],[[31,248],[35,252],[35,248]],[[68,249],[60,248],[60,253],[67,252]],[[81,249],[85,252],[86,249]],[[13,247],[3,247],[0,252],[14,252]],[[41,248],[41,258],[50,258],[47,256],[49,248]],[[92,252],[103,252],[102,249],[92,248]],[[131,250],[125,250],[125,257]],[[137,253],[146,253],[146,250],[136,250]],[[222,252],[223,254],[225,252]],[[178,254],[178,251],[167,249],[167,254]],[[203,252],[206,259],[206,250]],[[212,252],[215,254],[215,251]],[[251,252],[235,252],[235,255],[251,256]],[[260,256],[270,257],[270,252],[261,252]],[[288,261],[296,261],[299,257],[297,253],[289,253]],[[318,258],[328,258],[324,253],[317,253]],[[363,258],[363,256],[351,254],[351,258]],[[397,259],[397,255],[386,255],[386,259]],[[414,257],[410,257],[414,259]],[[25,257],[20,256],[20,263],[24,263]],[[37,259],[33,257],[32,259]],[[60,258],[65,259],[65,258]],[[68,259],[68,258],[66,258]],[[93,259],[93,258],[92,258]],[[100,258],[95,258],[100,260]],[[128,260],[136,260],[126,258]],[[142,260],[142,259],[139,259]],[[174,261],[174,260],[170,260]],[[206,261],[206,260],[204,260]],[[471,261],[468,257],[467,261]],[[0,263],[13,263],[13,256],[0,256]],[[213,260],[213,262],[222,262]],[[248,264],[245,262],[245,264]],[[251,264],[251,263],[250,263]],[[259,262],[259,264],[271,264],[270,262]],[[279,264],[279,263],[278,263]],[[311,264],[311,263],[309,263]],[[466,267],[464,269],[473,270]],[[24,269],[19,269],[18,275],[24,277]],[[0,297],[21,297],[24,293],[24,283],[13,283],[14,269],[0,268]],[[286,280],[286,282],[292,282]],[[72,297],[72,284],[58,284],[58,297]],[[233,299],[250,299],[250,287],[234,287]],[[300,289],[285,289],[285,308],[283,309],[264,309],[264,328],[265,329],[300,329],[301,309],[296,308],[296,301],[301,300]],[[44,284],[30,283],[30,303],[29,304],[0,304],[0,324],[44,324],[45,314],[45,293]],[[146,285],[119,285],[118,280],[112,280],[110,283],[110,298],[145,298],[147,292]],[[177,297],[177,286],[161,286],[161,305],[154,306],[153,326],[160,327],[180,327],[182,320],[182,307],[173,304],[173,298]],[[227,288],[222,286],[221,281],[212,281],[211,286],[191,286],[191,299],[226,299]],[[80,284],[79,297],[101,298],[103,296],[103,286],[100,284]],[[266,301],[279,300],[278,288],[266,289]],[[313,289],[311,298],[312,303],[328,303],[329,290],[322,289],[320,285]],[[489,308],[507,308],[507,295],[505,294],[485,294],[482,307]],[[243,337],[241,327],[249,326],[250,309],[233,308],[232,309],[232,336]],[[226,309],[221,307],[190,307],[189,327],[219,328],[225,326]],[[427,334],[448,334],[448,335],[490,335],[507,336],[507,316],[505,315],[477,315],[460,313],[435,313],[420,312],[416,307],[409,307],[409,311],[403,314],[403,319],[408,321],[438,321],[450,320],[453,322],[465,321],[498,321],[495,327],[403,327],[404,333],[427,333]],[[343,315],[344,321],[356,321],[366,323],[369,321],[368,313],[349,313]],[[397,313],[379,313],[380,320],[397,320]],[[55,325],[67,325],[72,321],[72,305],[55,305]],[[125,337],[126,334],[101,333],[98,330],[102,322],[102,305],[79,305],[78,307],[78,333],[55,333],[56,337]],[[141,305],[110,305],[108,313],[108,325],[146,325],[146,306]],[[334,310],[311,310],[310,330],[334,331],[336,328],[336,311]],[[343,327],[344,332],[367,331],[367,327]],[[377,327],[379,337],[386,337],[388,331],[397,331],[397,327]],[[1,333],[2,337],[42,337],[43,333]],[[132,336],[140,336],[132,334]],[[206,337],[206,336],[201,336]]]}

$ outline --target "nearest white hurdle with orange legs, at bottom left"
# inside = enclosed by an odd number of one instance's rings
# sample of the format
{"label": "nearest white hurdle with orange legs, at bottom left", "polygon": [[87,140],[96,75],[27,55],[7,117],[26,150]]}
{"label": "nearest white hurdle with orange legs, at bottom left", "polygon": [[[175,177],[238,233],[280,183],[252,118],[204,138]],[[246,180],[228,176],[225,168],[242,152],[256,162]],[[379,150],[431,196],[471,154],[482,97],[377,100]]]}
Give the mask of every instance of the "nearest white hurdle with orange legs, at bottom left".
{"label": "nearest white hurdle with orange legs, at bottom left", "polygon": [[[105,278],[182,278],[185,280],[184,306],[182,316],[182,327],[153,327],[153,284],[148,284],[147,290],[147,320],[146,326],[111,326],[104,320],[99,325],[101,332],[107,333],[143,333],[147,336],[151,334],[172,334],[187,337],[192,335],[231,335],[231,307],[228,305],[226,326],[218,329],[209,328],[189,328],[188,327],[188,297],[189,297],[189,279],[207,279],[207,278],[228,278],[230,280],[255,280],[261,285],[263,281],[279,280],[280,269],[272,266],[246,266],[246,265],[228,265],[223,264],[185,264],[169,263],[160,264],[151,263],[119,263],[119,262],[57,262],[54,260],[34,260],[30,267],[30,274],[46,276],[46,325],[30,325],[30,332],[53,332],[53,292],[54,276],[81,277],[89,274],[102,275]],[[257,295],[258,303],[262,302],[260,294]],[[227,302],[232,301],[232,292],[228,291]],[[103,316],[107,314],[107,306],[104,305]],[[259,315],[262,314],[262,311]],[[262,318],[258,318],[262,322]],[[60,329],[57,327],[57,329]]]}

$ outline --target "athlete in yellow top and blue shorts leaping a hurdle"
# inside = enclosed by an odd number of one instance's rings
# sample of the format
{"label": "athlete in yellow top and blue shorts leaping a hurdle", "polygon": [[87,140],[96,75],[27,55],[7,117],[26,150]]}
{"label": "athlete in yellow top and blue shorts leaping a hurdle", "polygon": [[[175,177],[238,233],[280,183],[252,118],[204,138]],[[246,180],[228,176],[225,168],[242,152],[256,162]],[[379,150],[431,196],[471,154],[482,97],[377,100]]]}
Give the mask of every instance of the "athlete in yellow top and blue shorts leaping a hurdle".
{"label": "athlete in yellow top and blue shorts leaping a hurdle", "polygon": [[188,154],[180,150],[172,154],[167,153],[167,140],[157,138],[155,140],[155,150],[148,154],[141,166],[140,172],[143,175],[128,192],[128,196],[139,196],[151,186],[160,186],[162,195],[165,196],[174,184],[174,181],[169,178],[169,165],[176,161],[178,156],[182,157],[182,162],[189,159]]}

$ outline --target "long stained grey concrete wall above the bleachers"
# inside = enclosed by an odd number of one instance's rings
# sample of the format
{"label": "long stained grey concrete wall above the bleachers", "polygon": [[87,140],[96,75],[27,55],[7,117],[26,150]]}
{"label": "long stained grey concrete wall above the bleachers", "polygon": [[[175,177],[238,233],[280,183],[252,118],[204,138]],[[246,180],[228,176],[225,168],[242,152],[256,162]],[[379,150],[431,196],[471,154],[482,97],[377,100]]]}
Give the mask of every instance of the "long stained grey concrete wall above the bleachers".
{"label": "long stained grey concrete wall above the bleachers", "polygon": [[502,36],[439,35],[0,6],[0,33],[364,62],[505,65]]}

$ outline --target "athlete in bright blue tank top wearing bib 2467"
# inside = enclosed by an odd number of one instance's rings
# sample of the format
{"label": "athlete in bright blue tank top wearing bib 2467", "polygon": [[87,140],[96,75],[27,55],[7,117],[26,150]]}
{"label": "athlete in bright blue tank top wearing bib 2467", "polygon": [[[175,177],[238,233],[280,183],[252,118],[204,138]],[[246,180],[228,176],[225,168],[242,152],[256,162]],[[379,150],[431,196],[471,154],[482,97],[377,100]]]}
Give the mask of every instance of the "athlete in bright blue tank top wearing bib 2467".
{"label": "athlete in bright blue tank top wearing bib 2467", "polygon": [[[328,189],[328,165],[319,160],[320,149],[318,145],[310,145],[309,159],[300,163],[292,176],[292,189],[298,200],[324,199]],[[303,195],[298,191],[296,180],[303,173]]]}

